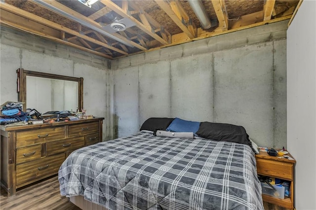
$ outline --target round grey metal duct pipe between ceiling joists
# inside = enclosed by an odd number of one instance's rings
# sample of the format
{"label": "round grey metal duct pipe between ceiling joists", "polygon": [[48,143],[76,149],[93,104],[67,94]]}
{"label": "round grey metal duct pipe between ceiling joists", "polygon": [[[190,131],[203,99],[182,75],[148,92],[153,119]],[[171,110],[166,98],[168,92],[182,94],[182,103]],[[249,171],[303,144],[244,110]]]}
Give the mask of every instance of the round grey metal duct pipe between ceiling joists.
{"label": "round grey metal duct pipe between ceiling joists", "polygon": [[203,29],[209,29],[211,28],[211,21],[208,18],[208,15],[206,13],[206,10],[202,4],[202,1],[200,0],[188,0],[190,3],[190,6],[192,7],[194,13],[197,15],[197,18],[199,22],[201,23],[201,26]]}

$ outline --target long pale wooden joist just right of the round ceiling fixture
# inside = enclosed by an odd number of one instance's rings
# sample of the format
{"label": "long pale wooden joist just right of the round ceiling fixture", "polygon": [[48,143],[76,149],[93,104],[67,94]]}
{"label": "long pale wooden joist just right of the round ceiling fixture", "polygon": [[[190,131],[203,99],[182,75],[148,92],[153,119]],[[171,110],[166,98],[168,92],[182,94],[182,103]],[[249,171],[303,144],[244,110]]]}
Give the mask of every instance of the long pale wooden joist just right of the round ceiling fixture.
{"label": "long pale wooden joist just right of the round ceiling fixture", "polygon": [[104,5],[108,6],[109,8],[111,8],[116,13],[118,13],[118,15],[120,15],[120,16],[122,16],[124,18],[128,18],[128,19],[132,20],[136,24],[136,27],[140,28],[142,31],[144,31],[146,34],[152,36],[154,39],[158,40],[160,43],[168,44],[168,42],[166,40],[161,38],[156,33],[153,33],[153,29],[151,27],[144,25],[143,23],[139,22],[133,16],[127,14],[122,8],[120,8],[113,1],[111,1],[111,0],[100,0],[100,2],[103,3]]}

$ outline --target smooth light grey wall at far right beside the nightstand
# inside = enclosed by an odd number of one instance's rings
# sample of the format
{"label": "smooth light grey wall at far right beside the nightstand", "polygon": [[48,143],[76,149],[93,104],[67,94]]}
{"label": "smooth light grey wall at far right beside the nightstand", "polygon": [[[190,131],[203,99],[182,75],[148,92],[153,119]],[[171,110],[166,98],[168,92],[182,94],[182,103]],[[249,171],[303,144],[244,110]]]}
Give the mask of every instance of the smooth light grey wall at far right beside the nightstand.
{"label": "smooth light grey wall at far right beside the nightstand", "polygon": [[315,10],[316,1],[304,0],[287,30],[287,145],[296,159],[297,210],[316,209]]}

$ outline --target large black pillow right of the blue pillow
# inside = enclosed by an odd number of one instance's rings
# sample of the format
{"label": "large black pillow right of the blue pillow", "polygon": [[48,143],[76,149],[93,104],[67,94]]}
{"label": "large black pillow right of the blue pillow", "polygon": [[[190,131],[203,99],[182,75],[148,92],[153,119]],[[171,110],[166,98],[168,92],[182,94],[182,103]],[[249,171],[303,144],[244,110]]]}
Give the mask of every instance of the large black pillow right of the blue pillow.
{"label": "large black pillow right of the blue pillow", "polygon": [[242,126],[201,122],[197,130],[197,135],[205,139],[242,143],[251,147],[249,136]]}

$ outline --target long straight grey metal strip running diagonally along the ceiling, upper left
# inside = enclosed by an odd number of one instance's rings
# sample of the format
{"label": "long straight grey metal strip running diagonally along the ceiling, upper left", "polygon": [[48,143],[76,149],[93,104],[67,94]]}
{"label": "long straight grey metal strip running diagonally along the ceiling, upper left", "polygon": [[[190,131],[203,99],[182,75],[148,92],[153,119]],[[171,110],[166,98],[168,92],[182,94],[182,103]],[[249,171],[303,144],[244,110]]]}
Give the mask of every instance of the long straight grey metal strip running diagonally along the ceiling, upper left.
{"label": "long straight grey metal strip running diagonally along the ceiling, upper left", "polygon": [[55,11],[55,12],[57,12],[57,13],[59,13],[59,14],[65,16],[65,17],[67,17],[67,18],[69,18],[69,19],[71,19],[71,20],[74,20],[74,21],[79,22],[81,25],[83,25],[83,26],[85,26],[85,27],[88,27],[88,28],[90,28],[90,29],[92,29],[92,30],[94,30],[94,31],[96,31],[96,32],[99,32],[100,34],[106,35],[106,36],[108,36],[108,37],[110,37],[110,38],[113,38],[113,39],[119,41],[120,43],[123,43],[123,44],[125,44],[125,45],[127,45],[127,46],[133,47],[133,45],[131,45],[130,43],[128,43],[128,42],[126,42],[126,41],[123,41],[123,40],[119,39],[118,37],[116,37],[116,36],[114,36],[114,35],[111,35],[111,34],[105,32],[105,31],[103,31],[102,29],[99,29],[98,27],[93,26],[93,25],[90,24],[90,23],[87,23],[87,22],[81,20],[80,18],[74,17],[74,16],[72,16],[71,14],[69,14],[69,13],[67,13],[67,12],[65,12],[65,11],[63,11],[63,10],[61,10],[61,9],[59,9],[59,8],[56,8],[55,6],[53,6],[53,5],[51,5],[51,4],[47,3],[47,2],[45,2],[45,1],[43,1],[43,0],[34,0],[34,1],[36,1],[36,2],[39,3],[40,5],[46,7],[46,8],[48,8],[48,9],[50,9],[50,10],[53,10],[53,11]]}

